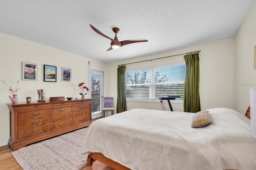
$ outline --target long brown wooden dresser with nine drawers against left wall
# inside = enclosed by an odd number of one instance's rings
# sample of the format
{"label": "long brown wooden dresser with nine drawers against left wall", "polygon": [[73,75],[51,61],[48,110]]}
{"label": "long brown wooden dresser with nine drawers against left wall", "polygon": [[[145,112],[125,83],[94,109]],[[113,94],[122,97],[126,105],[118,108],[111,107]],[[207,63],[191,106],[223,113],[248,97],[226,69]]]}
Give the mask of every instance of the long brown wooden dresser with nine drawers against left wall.
{"label": "long brown wooden dresser with nine drawers against left wall", "polygon": [[12,150],[92,123],[92,99],[7,105]]}

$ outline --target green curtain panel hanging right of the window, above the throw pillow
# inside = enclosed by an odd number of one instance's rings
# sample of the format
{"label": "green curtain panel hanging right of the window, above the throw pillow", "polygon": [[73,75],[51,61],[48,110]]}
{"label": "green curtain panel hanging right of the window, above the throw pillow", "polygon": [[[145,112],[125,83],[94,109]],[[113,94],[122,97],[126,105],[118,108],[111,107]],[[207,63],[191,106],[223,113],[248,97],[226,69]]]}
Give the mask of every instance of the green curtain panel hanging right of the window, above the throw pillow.
{"label": "green curtain panel hanging right of the window, above the throw pillow", "polygon": [[186,74],[184,81],[184,111],[201,111],[199,97],[199,53],[184,55]]}

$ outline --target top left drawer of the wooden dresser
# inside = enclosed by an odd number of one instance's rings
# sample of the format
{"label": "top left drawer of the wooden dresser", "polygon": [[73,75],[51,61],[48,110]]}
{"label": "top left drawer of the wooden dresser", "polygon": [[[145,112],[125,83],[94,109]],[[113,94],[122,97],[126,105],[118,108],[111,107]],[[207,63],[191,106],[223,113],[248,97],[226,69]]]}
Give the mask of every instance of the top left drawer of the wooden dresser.
{"label": "top left drawer of the wooden dresser", "polygon": [[46,117],[51,115],[52,115],[52,109],[20,112],[18,113],[18,121],[35,119],[35,118]]}

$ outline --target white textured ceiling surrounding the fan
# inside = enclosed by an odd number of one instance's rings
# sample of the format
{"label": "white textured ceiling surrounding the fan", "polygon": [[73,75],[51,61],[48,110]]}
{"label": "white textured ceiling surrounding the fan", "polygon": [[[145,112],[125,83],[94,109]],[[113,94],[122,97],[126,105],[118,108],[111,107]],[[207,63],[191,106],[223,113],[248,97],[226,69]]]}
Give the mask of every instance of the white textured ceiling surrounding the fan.
{"label": "white textured ceiling surrounding the fan", "polygon": [[[0,32],[107,63],[234,37],[255,0],[0,0]],[[114,38],[148,39],[106,51]],[[1,38],[1,37],[0,37]]]}

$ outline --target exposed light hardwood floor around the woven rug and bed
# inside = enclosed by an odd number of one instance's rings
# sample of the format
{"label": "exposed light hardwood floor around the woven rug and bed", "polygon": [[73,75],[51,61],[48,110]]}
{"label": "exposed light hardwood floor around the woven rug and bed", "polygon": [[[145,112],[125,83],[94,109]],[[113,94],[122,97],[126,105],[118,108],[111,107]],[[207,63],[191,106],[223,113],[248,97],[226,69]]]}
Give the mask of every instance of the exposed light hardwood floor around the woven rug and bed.
{"label": "exposed light hardwood floor around the woven rug and bed", "polygon": [[[98,118],[99,119],[99,118]],[[95,121],[97,119],[93,119]],[[12,156],[12,150],[8,147],[8,145],[0,147],[0,170],[23,170]],[[92,166],[85,166],[81,170],[114,170],[105,164],[95,160]]]}

